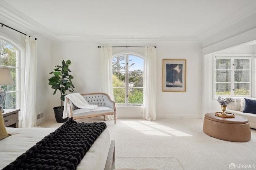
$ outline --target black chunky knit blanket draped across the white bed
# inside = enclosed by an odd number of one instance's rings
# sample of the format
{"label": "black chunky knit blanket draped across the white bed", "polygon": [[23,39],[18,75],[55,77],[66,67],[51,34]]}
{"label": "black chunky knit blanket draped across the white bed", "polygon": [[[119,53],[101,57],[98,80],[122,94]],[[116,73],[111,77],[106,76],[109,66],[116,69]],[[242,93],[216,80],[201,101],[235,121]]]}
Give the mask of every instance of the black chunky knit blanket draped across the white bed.
{"label": "black chunky knit blanket draped across the white bed", "polygon": [[75,170],[106,123],[77,123],[71,117],[3,170]]}

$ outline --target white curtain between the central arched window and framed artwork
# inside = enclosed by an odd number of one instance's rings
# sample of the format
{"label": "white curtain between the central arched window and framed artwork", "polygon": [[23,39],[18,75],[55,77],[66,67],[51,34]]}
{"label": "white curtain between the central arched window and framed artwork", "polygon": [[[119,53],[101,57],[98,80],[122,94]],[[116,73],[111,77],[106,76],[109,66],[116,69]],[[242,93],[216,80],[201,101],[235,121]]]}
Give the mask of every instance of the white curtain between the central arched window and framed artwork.
{"label": "white curtain between the central arched window and framed artwork", "polygon": [[143,118],[156,120],[156,48],[146,47],[144,60],[144,112]]}

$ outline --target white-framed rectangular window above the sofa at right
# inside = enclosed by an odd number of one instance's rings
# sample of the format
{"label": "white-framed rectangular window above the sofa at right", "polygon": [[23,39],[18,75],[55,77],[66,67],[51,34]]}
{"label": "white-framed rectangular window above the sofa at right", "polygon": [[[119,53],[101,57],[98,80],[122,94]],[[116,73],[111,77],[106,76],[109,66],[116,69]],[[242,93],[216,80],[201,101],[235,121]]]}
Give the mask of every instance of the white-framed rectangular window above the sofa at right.
{"label": "white-framed rectangular window above the sofa at right", "polygon": [[214,65],[215,97],[251,97],[251,56],[215,56]]}

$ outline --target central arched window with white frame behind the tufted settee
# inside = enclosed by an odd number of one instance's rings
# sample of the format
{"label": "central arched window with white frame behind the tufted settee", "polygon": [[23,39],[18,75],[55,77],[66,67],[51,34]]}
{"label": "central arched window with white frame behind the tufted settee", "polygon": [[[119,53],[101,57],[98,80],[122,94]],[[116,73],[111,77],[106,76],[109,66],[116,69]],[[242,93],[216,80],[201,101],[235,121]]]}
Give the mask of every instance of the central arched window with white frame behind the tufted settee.
{"label": "central arched window with white frame behind the tufted settee", "polygon": [[125,53],[112,57],[114,100],[117,105],[143,104],[144,59]]}

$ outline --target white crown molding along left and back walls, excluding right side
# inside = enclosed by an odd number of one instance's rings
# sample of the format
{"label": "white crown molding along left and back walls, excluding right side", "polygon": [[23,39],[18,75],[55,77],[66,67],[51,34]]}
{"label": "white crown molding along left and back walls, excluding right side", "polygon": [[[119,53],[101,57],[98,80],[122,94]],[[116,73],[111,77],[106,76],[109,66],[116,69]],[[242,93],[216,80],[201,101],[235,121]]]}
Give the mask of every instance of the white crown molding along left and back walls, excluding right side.
{"label": "white crown molding along left and back walls, excluding right side", "polygon": [[0,0],[0,15],[20,24],[28,30],[38,32],[56,41],[97,41],[97,42],[146,42],[146,41],[198,41],[196,36],[56,36],[53,32],[32,20],[8,3]]}

